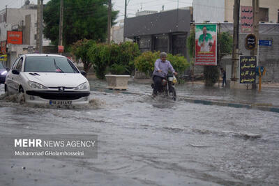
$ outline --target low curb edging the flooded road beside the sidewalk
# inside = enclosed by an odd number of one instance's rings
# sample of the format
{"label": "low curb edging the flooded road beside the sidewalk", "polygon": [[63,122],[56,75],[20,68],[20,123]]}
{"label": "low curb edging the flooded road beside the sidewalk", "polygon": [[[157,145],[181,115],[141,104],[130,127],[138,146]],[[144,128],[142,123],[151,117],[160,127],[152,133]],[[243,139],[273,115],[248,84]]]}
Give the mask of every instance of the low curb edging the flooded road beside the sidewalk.
{"label": "low curb edging the flooded road beside the sidewalk", "polygon": [[[96,92],[105,92],[105,93],[123,93],[126,95],[144,95],[142,93],[132,93],[128,91],[118,91],[112,90],[107,88],[91,88],[91,91]],[[185,102],[196,103],[196,104],[205,104],[205,105],[217,105],[220,107],[234,107],[234,108],[244,108],[244,109],[258,109],[261,111],[272,111],[279,113],[279,107],[272,107],[272,104],[262,104],[262,105],[271,105],[271,106],[261,106],[261,104],[241,104],[241,103],[234,103],[234,102],[217,102],[211,100],[195,100],[189,98],[183,98],[179,96],[179,100],[183,100]]]}

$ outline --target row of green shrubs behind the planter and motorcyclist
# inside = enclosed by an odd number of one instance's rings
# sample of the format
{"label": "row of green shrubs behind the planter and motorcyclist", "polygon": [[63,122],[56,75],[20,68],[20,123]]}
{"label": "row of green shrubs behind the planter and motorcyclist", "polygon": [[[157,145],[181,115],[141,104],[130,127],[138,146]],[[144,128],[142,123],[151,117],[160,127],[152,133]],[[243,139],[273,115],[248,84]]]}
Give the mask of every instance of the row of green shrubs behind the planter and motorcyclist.
{"label": "row of green shrubs behind the planter and motorcyclist", "polygon": [[[160,54],[160,52],[141,54],[134,42],[107,45],[86,39],[75,42],[71,46],[71,52],[76,59],[82,60],[86,72],[93,68],[98,79],[105,79],[106,74],[132,75],[135,70],[151,77],[154,63]],[[183,74],[190,65],[184,56],[167,54],[167,60],[171,61],[179,74]]]}

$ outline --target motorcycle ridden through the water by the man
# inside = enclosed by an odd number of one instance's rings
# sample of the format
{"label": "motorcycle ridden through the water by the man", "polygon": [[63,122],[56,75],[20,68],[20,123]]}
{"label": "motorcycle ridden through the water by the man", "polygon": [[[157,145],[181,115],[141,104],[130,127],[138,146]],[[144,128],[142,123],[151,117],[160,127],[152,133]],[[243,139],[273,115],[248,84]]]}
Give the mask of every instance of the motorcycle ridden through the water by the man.
{"label": "motorcycle ridden through the water by the man", "polygon": [[[176,100],[176,91],[174,84],[176,83],[176,77],[174,75],[168,74],[167,77],[162,79],[162,88],[158,91],[158,95]],[[151,84],[151,87],[154,89],[154,84]],[[152,93],[153,98],[156,97]]]}

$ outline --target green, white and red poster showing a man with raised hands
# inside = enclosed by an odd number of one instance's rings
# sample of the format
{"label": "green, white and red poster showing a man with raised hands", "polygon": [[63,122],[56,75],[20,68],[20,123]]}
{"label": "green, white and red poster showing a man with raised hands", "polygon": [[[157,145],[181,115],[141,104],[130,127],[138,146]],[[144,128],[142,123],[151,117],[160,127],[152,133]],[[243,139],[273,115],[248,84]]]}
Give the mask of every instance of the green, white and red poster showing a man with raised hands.
{"label": "green, white and red poster showing a man with raised hands", "polygon": [[217,65],[217,25],[196,24],[195,65]]}

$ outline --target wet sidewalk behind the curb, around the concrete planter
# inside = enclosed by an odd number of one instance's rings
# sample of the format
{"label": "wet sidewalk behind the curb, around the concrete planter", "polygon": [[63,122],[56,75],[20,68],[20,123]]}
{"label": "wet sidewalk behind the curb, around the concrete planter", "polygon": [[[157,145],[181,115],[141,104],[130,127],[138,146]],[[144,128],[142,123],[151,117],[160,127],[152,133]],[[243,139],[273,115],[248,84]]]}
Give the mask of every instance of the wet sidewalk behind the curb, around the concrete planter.
{"label": "wet sidewalk behind the curb, around the concrete planter", "polygon": [[[150,79],[130,79],[127,91],[107,89],[105,81],[89,79],[92,91],[105,91],[107,93],[124,93],[151,95]],[[264,111],[279,112],[279,84],[263,84],[262,91],[231,89],[204,86],[203,82],[186,82],[176,85],[176,94],[179,100],[199,104],[210,104],[226,107],[260,109]]]}

